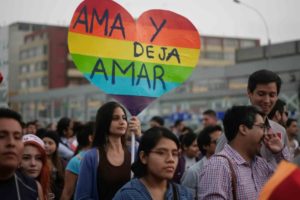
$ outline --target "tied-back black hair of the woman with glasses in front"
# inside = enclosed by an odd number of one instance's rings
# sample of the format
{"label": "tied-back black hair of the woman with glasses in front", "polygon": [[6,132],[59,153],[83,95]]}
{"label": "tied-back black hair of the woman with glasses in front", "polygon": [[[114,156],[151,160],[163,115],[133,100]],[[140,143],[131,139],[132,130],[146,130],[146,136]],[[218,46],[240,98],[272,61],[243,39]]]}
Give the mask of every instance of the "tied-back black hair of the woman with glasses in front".
{"label": "tied-back black hair of the woman with glasses in front", "polygon": [[179,149],[179,141],[174,133],[164,127],[153,127],[148,129],[142,136],[137,152],[137,159],[132,164],[131,169],[137,178],[141,178],[147,174],[147,166],[142,163],[139,155],[144,152],[149,155],[150,151],[157,145],[161,138],[167,138],[175,142]]}

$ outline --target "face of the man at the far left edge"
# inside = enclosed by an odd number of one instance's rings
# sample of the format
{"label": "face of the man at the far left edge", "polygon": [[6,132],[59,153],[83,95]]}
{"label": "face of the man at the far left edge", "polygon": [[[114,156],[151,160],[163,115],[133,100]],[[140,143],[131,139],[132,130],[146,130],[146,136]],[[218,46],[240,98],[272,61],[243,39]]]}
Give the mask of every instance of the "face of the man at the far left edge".
{"label": "face of the man at the far left edge", "polygon": [[0,119],[0,169],[17,169],[22,153],[22,127],[14,119]]}

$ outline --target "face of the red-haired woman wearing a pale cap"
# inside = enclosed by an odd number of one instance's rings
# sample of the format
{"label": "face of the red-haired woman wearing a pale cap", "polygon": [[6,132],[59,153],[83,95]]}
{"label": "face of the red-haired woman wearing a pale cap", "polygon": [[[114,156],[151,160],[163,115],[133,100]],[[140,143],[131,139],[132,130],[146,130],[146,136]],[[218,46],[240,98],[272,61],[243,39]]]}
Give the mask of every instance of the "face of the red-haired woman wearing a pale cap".
{"label": "face of the red-haired woman wearing a pale cap", "polygon": [[33,145],[26,145],[21,161],[21,169],[23,173],[29,177],[37,178],[42,170],[42,154]]}

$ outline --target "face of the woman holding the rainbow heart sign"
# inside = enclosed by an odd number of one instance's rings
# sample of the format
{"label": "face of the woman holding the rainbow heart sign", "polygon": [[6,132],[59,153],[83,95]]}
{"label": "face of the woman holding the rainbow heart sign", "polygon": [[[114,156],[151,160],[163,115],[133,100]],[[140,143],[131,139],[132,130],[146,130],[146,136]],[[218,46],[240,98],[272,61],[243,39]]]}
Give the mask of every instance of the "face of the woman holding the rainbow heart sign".
{"label": "face of the woman holding the rainbow heart sign", "polygon": [[110,135],[125,135],[127,131],[127,118],[122,108],[117,107],[114,110],[109,132]]}

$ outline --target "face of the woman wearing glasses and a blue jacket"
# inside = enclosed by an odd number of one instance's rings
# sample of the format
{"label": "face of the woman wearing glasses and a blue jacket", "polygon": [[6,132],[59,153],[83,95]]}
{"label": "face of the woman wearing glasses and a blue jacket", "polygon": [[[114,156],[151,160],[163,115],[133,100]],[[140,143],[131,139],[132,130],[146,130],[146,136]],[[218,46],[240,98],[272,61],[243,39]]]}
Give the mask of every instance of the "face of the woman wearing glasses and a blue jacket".
{"label": "face of the woman wearing glasses and a blue jacket", "polygon": [[147,175],[156,179],[170,180],[176,170],[179,150],[176,143],[168,138],[161,138],[157,145],[145,155],[140,154],[141,161],[147,165]]}

